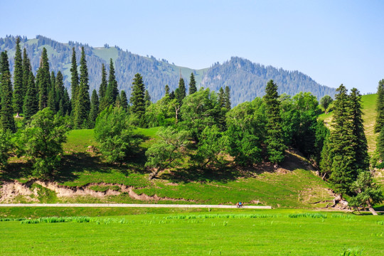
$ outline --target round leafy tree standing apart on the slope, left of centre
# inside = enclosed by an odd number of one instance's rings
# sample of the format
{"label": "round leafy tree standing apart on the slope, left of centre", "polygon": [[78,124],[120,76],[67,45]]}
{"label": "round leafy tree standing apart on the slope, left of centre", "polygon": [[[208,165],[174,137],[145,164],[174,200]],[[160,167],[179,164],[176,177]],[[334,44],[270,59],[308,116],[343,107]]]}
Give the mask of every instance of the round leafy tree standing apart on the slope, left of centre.
{"label": "round leafy tree standing apart on the slope, left of centre", "polygon": [[141,140],[134,136],[129,117],[122,107],[108,107],[96,119],[95,139],[106,161],[122,164],[137,150]]}

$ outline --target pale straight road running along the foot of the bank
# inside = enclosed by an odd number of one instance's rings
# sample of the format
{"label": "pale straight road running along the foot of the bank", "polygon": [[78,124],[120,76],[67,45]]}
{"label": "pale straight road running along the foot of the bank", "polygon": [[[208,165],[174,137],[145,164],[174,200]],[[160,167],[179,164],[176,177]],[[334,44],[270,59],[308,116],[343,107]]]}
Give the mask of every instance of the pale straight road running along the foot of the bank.
{"label": "pale straight road running along the foot of the bank", "polygon": [[[181,205],[139,203],[0,203],[0,207],[135,207],[135,208],[237,208],[224,205]],[[272,209],[271,206],[243,206],[244,209]]]}

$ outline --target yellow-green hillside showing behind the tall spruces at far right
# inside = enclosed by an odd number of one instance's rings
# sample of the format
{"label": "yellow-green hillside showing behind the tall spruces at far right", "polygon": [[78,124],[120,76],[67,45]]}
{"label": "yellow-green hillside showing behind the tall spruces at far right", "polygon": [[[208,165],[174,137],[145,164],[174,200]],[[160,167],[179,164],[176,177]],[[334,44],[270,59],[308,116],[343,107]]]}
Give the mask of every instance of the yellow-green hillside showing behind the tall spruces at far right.
{"label": "yellow-green hillside showing behind the tall spruces at far right", "polygon": [[[361,105],[363,107],[363,120],[364,128],[366,129],[366,137],[368,142],[368,151],[371,153],[376,149],[376,138],[378,134],[373,133],[376,120],[376,99],[377,95],[363,95],[361,97]],[[321,114],[319,119],[324,120],[326,123],[331,124],[334,114]]]}

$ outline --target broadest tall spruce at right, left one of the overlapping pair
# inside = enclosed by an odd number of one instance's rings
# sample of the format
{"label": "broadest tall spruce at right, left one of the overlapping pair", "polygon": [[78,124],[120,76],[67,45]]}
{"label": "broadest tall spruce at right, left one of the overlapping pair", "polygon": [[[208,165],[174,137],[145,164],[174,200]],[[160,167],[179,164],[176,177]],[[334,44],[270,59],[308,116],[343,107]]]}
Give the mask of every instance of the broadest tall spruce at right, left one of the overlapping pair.
{"label": "broadest tall spruce at right, left one of the overlapping pair", "polygon": [[334,100],[334,117],[331,135],[329,137],[329,160],[331,161],[331,175],[329,181],[334,191],[349,193],[351,184],[356,180],[356,139],[353,134],[353,106],[348,96],[348,90],[340,85],[336,89]]}

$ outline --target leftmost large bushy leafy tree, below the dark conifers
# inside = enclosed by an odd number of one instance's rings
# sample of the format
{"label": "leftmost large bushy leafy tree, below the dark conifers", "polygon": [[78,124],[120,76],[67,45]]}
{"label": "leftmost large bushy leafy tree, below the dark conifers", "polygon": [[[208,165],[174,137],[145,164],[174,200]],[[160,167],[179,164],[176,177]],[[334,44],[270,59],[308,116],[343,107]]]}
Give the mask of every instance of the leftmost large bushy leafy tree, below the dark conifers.
{"label": "leftmost large bushy leafy tree, below the dark conifers", "polygon": [[60,167],[68,127],[49,108],[37,112],[20,132],[18,154],[33,164],[33,175],[46,178]]}

